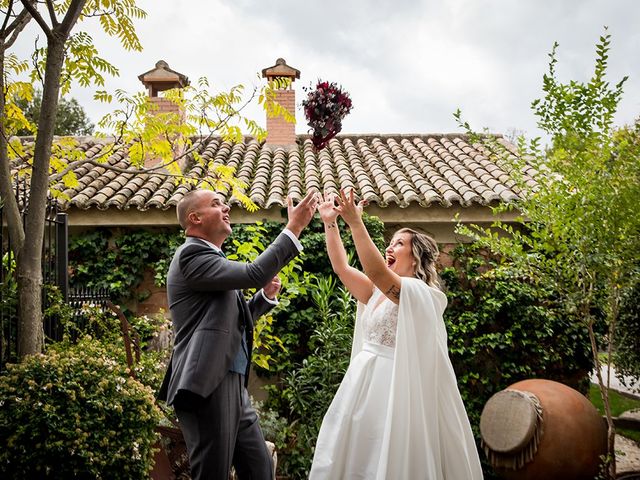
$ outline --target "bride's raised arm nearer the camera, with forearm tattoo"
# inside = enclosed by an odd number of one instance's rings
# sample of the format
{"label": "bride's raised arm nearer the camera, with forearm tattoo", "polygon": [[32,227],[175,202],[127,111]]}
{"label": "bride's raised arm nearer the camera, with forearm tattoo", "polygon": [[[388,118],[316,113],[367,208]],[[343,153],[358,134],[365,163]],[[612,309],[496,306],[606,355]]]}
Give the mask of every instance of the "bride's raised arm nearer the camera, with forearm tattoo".
{"label": "bride's raised arm nearer the camera, with forearm tattoo", "polygon": [[355,204],[353,190],[349,195],[341,191],[338,203],[340,215],[351,228],[353,243],[364,273],[389,300],[396,304],[400,303],[400,276],[387,267],[387,262],[371,240],[362,221],[363,203]]}

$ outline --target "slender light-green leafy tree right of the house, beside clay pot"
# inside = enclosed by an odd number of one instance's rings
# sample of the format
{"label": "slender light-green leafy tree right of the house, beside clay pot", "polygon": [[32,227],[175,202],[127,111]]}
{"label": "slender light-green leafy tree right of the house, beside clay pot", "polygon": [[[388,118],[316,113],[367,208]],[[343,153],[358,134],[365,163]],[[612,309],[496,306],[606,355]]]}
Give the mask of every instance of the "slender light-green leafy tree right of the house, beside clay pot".
{"label": "slender light-green leafy tree right of the house, beside clay pot", "polygon": [[[508,267],[554,288],[588,327],[608,421],[608,477],[613,479],[615,428],[609,379],[600,373],[598,351],[604,346],[611,361],[621,299],[632,294],[640,278],[640,123],[613,124],[626,77],[615,86],[605,78],[608,34],[596,45],[595,71],[586,83],[558,80],[557,46],[544,75],[544,97],[532,104],[550,146],[541,148],[538,139],[527,145],[521,138],[519,155],[513,156],[485,142],[487,154],[497,155],[516,178],[526,169],[537,171],[537,184],[519,181],[520,200],[502,207],[519,210],[521,225],[498,222],[495,227],[507,235],[480,227],[460,231],[509,259]],[[602,319],[606,334],[598,337],[596,324]]]}

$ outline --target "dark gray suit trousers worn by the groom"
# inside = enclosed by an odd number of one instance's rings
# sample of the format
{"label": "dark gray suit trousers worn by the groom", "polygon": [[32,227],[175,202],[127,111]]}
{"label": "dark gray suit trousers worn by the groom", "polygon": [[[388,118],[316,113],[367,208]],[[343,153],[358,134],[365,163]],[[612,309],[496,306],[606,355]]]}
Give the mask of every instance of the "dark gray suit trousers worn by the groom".
{"label": "dark gray suit trousers worn by the groom", "polygon": [[193,480],[228,480],[232,464],[240,480],[272,480],[271,456],[244,387],[244,376],[227,373],[205,399],[179,397],[174,408],[189,451]]}

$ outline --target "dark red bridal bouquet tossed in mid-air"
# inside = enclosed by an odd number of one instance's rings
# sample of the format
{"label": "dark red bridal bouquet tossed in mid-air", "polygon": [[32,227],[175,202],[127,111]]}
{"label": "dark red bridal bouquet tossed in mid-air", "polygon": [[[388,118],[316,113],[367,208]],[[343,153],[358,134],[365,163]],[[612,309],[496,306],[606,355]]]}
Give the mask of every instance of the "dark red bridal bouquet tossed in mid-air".
{"label": "dark red bridal bouquet tossed in mid-air", "polygon": [[313,146],[322,150],[342,130],[342,119],[351,111],[352,104],[349,94],[338,85],[318,80],[316,89],[309,91],[302,101],[302,107],[311,127]]}

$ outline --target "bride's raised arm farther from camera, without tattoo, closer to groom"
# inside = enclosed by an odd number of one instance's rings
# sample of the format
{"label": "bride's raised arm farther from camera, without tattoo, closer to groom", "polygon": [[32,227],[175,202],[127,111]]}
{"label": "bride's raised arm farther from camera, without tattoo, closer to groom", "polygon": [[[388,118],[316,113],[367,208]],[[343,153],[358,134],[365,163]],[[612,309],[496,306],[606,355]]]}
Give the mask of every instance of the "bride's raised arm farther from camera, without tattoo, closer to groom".
{"label": "bride's raised arm farther from camera, without tattoo, closer to groom", "polygon": [[331,268],[351,295],[359,302],[367,303],[373,292],[373,282],[365,274],[349,265],[347,252],[338,230],[338,222],[336,221],[338,211],[335,208],[333,196],[325,198],[318,205],[318,212],[324,223],[325,242]]}

